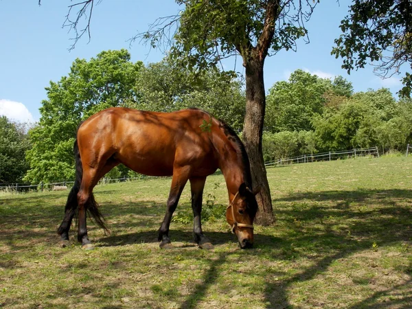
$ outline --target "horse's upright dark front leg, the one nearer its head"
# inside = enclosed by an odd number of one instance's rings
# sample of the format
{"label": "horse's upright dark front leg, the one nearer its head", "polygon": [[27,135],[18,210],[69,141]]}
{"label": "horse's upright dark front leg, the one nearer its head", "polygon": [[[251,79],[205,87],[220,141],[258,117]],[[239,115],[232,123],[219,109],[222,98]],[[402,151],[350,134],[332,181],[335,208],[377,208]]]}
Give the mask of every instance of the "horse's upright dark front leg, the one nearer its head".
{"label": "horse's upright dark front leg, the one nearer its head", "polygon": [[202,231],[202,201],[203,188],[205,187],[206,177],[191,178],[190,189],[192,191],[193,209],[193,237],[194,241],[202,249],[213,249],[213,244],[203,235]]}

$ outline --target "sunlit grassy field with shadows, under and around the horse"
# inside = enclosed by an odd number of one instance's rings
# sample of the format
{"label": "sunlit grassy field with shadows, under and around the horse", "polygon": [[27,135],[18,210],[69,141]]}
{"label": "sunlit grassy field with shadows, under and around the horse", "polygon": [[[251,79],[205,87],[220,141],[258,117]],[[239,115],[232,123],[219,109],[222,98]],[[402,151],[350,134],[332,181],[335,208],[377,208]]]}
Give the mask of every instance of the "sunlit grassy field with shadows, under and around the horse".
{"label": "sunlit grassy field with shadows, under and around the horse", "polygon": [[[220,219],[203,225],[214,250],[192,243],[192,222],[172,222],[175,249],[159,249],[170,179],[96,187],[112,233],[89,222],[93,251],[58,246],[67,192],[3,194],[0,307],[412,308],[412,158],[290,165],[268,180],[277,222],[255,227],[250,250]],[[222,176],[208,197],[227,205]]]}

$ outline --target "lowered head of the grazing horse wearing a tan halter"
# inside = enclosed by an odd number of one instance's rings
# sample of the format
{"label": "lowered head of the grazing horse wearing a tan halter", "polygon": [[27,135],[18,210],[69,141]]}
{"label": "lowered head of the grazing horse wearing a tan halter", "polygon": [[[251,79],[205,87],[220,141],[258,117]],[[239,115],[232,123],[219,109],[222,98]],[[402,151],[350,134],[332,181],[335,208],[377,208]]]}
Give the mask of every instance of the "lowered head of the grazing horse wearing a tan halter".
{"label": "lowered head of the grazing horse wearing a tan halter", "polygon": [[252,191],[242,183],[226,209],[226,220],[232,227],[232,233],[238,236],[242,249],[253,247],[253,219],[258,211],[255,195],[258,192],[260,187]]}

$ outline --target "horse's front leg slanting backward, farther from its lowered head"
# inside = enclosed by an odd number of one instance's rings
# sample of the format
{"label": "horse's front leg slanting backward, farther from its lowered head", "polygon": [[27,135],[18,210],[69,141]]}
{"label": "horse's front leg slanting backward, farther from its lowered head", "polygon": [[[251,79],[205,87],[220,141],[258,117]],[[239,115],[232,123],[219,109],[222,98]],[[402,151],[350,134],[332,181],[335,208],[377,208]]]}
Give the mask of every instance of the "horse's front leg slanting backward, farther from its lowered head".
{"label": "horse's front leg slanting backward, farther from its lowered head", "polygon": [[169,238],[170,221],[172,220],[172,215],[177,207],[177,203],[179,203],[179,198],[185,184],[187,183],[187,179],[189,179],[189,171],[189,167],[174,168],[173,170],[172,186],[170,188],[166,214],[159,229],[159,241],[161,242],[161,248],[167,249],[172,247]]}

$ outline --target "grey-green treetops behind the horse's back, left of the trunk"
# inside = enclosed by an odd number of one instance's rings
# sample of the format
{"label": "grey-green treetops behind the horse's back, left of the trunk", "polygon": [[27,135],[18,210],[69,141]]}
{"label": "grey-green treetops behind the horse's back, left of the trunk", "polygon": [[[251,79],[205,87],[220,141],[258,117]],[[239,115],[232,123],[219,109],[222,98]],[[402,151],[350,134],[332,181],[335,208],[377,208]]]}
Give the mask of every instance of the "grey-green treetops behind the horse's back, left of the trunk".
{"label": "grey-green treetops behind the horse's back, left of the trunk", "polygon": [[245,103],[242,85],[233,72],[209,68],[194,73],[166,57],[141,69],[136,86],[140,100],[135,107],[148,111],[198,107],[240,132]]}

